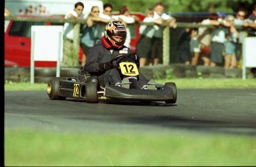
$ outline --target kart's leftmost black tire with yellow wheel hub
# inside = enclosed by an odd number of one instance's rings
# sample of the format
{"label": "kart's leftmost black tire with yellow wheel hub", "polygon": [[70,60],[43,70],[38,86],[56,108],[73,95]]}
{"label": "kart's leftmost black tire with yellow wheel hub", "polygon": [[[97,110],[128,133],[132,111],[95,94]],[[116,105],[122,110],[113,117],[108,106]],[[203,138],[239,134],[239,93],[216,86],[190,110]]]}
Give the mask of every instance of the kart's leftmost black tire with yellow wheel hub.
{"label": "kart's leftmost black tire with yellow wheel hub", "polygon": [[59,96],[59,81],[65,78],[53,77],[47,83],[47,95],[51,100],[65,100],[66,97]]}

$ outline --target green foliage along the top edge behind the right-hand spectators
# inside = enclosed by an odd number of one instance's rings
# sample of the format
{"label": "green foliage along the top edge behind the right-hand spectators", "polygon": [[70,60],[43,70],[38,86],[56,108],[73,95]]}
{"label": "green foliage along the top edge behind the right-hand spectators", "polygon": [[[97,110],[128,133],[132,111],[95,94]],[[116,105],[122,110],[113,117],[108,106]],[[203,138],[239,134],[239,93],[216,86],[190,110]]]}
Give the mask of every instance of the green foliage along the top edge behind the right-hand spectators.
{"label": "green foliage along the top edge behind the right-hand spectators", "polygon": [[[142,12],[149,7],[154,8],[155,0],[103,0],[103,3],[114,5],[114,11],[118,12],[119,7],[127,4],[131,12]],[[255,0],[163,0],[165,13],[168,12],[217,12],[234,13],[240,7],[244,7],[249,13],[255,4]]]}

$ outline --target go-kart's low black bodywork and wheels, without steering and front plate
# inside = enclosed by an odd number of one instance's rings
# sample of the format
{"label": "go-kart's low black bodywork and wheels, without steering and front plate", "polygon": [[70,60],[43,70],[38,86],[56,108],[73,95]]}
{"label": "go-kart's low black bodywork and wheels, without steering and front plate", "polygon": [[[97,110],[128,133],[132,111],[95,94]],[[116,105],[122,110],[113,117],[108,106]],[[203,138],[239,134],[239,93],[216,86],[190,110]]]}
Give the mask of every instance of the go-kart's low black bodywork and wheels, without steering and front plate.
{"label": "go-kart's low black bodywork and wheels, without steering and front plate", "polygon": [[102,89],[95,76],[91,76],[85,83],[77,78],[55,77],[47,83],[47,95],[51,100],[75,98],[85,99],[87,103],[98,103],[99,100],[176,103],[177,87],[175,83],[167,82],[164,85],[156,83],[156,89],[126,89],[114,85],[105,86],[105,89]]}

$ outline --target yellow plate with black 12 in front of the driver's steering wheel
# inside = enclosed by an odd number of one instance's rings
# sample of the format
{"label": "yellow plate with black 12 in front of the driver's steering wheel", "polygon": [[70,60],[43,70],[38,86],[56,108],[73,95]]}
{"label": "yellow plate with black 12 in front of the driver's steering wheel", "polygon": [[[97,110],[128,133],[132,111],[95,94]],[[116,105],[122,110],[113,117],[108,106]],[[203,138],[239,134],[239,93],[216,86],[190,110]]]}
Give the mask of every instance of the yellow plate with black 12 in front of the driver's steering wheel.
{"label": "yellow plate with black 12 in front of the driver's steering wheel", "polygon": [[122,62],[119,64],[122,75],[135,76],[139,75],[139,70],[136,64],[132,62]]}

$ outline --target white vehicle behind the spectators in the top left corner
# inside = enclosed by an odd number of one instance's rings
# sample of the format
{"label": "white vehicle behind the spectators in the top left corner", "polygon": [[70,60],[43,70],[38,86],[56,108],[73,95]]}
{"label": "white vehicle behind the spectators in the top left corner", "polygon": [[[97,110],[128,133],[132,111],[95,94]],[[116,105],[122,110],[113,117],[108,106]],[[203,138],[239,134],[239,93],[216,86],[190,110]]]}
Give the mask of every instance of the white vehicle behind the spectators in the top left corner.
{"label": "white vehicle behind the spectators in the top left corner", "polygon": [[[77,1],[73,0],[5,0],[5,7],[13,15],[64,15],[73,10],[74,4]],[[99,10],[103,11],[103,2],[99,0],[81,0],[85,5],[83,14],[88,15],[91,12],[91,7],[98,6]]]}

